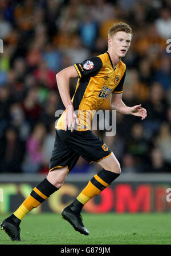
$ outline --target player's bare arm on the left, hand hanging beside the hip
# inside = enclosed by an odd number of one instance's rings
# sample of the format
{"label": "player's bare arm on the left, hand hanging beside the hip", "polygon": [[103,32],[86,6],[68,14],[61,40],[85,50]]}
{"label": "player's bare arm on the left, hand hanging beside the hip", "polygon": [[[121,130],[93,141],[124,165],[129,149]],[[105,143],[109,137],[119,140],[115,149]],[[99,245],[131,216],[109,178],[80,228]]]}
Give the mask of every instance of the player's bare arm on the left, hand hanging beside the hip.
{"label": "player's bare arm on the left, hand hanging beside the hip", "polygon": [[79,124],[70,97],[70,79],[78,77],[78,72],[74,66],[69,66],[68,68],[63,69],[58,74],[56,74],[56,82],[58,85],[60,97],[64,106],[66,107],[65,131],[67,131],[67,129],[71,129],[71,132],[73,132],[75,122]]}

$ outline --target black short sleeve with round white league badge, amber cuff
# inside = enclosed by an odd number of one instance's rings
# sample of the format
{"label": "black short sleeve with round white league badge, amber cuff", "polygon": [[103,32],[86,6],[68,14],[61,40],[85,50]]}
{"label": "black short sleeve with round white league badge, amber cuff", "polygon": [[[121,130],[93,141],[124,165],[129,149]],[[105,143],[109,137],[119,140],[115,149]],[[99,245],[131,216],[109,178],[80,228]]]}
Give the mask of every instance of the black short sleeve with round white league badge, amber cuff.
{"label": "black short sleeve with round white league badge, amber cuff", "polygon": [[99,73],[103,63],[101,58],[94,56],[88,60],[83,61],[82,63],[77,63],[74,66],[80,78],[85,76],[91,77],[96,76],[96,74]]}

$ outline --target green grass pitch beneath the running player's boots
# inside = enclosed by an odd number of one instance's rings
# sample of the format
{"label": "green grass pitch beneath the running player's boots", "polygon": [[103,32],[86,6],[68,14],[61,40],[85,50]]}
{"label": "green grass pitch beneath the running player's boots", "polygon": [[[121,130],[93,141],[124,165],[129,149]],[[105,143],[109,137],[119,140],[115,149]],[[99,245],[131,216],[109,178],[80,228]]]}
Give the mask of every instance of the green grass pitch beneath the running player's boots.
{"label": "green grass pitch beneath the running player's boots", "polygon": [[[89,235],[81,235],[61,215],[28,214],[21,223],[21,242],[0,231],[0,245],[170,245],[171,213],[86,214]],[[7,216],[0,215],[0,223]]]}

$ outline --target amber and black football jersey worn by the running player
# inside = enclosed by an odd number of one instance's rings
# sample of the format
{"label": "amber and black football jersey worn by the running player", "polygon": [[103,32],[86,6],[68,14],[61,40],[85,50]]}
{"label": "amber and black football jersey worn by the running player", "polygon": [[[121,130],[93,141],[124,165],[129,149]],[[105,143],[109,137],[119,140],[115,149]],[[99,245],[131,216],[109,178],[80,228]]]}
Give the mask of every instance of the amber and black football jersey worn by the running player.
{"label": "amber and black football jersey worn by the running player", "polygon": [[[93,115],[108,95],[123,92],[126,66],[119,61],[114,69],[108,52],[74,66],[79,78],[72,104],[80,123],[77,130],[86,131],[91,129]],[[57,129],[64,129],[64,113],[56,124]]]}

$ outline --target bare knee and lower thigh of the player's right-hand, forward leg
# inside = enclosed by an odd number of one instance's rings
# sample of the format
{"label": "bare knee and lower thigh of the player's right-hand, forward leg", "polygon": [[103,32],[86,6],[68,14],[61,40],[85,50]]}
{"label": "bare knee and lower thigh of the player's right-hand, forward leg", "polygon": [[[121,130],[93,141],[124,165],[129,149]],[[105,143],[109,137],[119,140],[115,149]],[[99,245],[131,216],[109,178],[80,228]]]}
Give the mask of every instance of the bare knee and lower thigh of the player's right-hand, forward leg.
{"label": "bare knee and lower thigh of the player's right-hand, forward leg", "polygon": [[97,163],[100,164],[100,166],[105,170],[116,172],[117,174],[120,174],[121,172],[120,163],[117,160],[116,156],[113,154],[113,152],[111,153],[111,155],[100,160]]}

